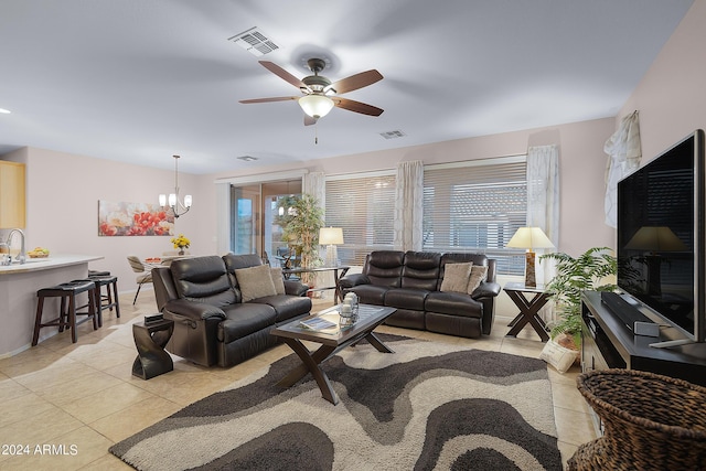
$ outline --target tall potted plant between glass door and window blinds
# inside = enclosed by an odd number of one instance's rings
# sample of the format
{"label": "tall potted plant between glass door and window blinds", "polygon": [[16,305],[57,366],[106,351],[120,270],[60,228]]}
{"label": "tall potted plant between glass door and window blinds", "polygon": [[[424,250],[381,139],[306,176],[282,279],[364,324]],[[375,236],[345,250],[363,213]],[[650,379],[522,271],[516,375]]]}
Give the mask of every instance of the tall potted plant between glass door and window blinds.
{"label": "tall potted plant between glass door and window blinds", "polygon": [[[323,227],[323,210],[311,194],[303,193],[287,201],[288,211],[279,217],[282,239],[296,250],[302,268],[321,265],[319,256],[319,229]],[[311,285],[314,274],[302,274],[302,281]]]}

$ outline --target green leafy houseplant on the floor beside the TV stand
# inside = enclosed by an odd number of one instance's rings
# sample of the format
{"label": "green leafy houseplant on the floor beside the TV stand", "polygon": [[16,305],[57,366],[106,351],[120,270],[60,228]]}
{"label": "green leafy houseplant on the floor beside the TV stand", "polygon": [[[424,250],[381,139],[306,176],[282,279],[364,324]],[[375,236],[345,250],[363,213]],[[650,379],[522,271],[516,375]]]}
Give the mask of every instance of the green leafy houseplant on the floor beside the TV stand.
{"label": "green leafy houseplant on the floor beside the TV stand", "polygon": [[552,325],[552,339],[567,334],[576,347],[580,345],[581,291],[613,291],[617,288],[614,283],[602,283],[606,277],[614,276],[618,270],[616,257],[610,251],[608,247],[592,247],[577,258],[564,253],[539,257],[556,263],[556,276],[546,287],[559,313]]}

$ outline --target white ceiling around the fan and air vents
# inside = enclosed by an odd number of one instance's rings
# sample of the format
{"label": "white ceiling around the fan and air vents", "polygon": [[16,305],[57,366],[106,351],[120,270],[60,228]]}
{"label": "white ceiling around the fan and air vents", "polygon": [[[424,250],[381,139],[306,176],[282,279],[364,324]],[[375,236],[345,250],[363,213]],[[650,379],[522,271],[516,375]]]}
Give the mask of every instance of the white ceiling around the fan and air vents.
{"label": "white ceiling around the fan and air vents", "polygon": [[[211,173],[612,117],[693,0],[2,0],[0,154],[23,146]],[[297,77],[325,56],[345,94],[303,126]],[[379,133],[402,130],[386,140]],[[314,131],[319,143],[314,144]],[[253,156],[256,162],[237,160]]]}

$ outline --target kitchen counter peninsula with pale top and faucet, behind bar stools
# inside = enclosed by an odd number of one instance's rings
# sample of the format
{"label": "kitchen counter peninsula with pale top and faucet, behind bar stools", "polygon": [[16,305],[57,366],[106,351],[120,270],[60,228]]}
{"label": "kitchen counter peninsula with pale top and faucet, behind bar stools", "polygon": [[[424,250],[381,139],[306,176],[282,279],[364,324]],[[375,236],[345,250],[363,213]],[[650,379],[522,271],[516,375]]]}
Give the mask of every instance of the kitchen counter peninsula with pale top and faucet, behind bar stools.
{"label": "kitchen counter peninsula with pale top and faucet, behind bar stools", "polygon": [[[88,263],[100,259],[101,256],[90,255],[50,255],[28,258],[25,264],[0,266],[0,358],[15,355],[32,344],[38,290],[86,278]],[[57,315],[58,302],[47,302],[43,319]],[[57,332],[57,328],[43,328],[40,342]]]}

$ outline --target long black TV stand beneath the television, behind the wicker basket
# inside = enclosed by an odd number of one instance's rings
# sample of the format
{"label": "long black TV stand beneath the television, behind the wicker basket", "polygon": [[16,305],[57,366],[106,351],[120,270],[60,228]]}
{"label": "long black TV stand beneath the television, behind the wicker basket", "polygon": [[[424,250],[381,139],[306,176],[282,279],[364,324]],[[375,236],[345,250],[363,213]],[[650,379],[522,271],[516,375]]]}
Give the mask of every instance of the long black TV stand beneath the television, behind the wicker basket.
{"label": "long black TV stand beneath the television, behind the wicker basket", "polygon": [[[625,323],[601,301],[600,292],[581,295],[581,368],[628,368],[657,373],[706,386],[706,343],[684,341],[674,328],[661,329],[660,338],[634,335]],[[671,342],[670,349],[651,344]]]}

